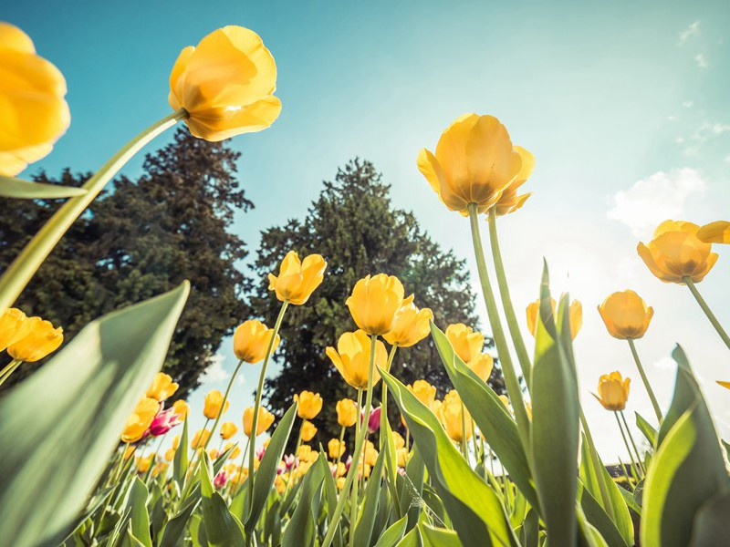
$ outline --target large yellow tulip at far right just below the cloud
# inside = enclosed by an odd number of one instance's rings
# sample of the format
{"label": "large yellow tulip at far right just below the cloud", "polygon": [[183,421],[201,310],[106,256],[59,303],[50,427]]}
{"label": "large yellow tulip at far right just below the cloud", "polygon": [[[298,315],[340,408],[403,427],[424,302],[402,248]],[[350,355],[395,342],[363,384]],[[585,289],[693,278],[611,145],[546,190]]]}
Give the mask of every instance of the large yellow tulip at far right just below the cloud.
{"label": "large yellow tulip at far right just below the cloud", "polygon": [[664,283],[684,284],[685,277],[699,283],[717,262],[712,243],[697,237],[699,229],[692,222],[664,221],[654,231],[652,241],[639,243],[636,250]]}

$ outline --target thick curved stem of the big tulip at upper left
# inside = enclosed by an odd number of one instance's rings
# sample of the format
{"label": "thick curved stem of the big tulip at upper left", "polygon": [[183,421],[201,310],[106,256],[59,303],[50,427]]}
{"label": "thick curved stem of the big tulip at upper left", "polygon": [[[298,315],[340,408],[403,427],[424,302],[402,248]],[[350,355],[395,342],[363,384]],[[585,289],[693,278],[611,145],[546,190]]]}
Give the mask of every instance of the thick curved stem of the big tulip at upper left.
{"label": "thick curved stem of the big tulip at upper left", "polygon": [[0,277],[0,312],[16,302],[17,297],[26,288],[28,282],[46,260],[48,254],[68,231],[71,224],[89,207],[91,201],[99,195],[107,182],[119,172],[127,161],[142,147],[160,135],[166,129],[172,128],[178,121],[188,117],[184,108],[165,116],[149,128],[144,129],[134,139],[125,144],[93,177],[81,187],[86,192],[66,201],[54,215],[43,225],[36,235],[26,244],[16,260],[5,270]]}

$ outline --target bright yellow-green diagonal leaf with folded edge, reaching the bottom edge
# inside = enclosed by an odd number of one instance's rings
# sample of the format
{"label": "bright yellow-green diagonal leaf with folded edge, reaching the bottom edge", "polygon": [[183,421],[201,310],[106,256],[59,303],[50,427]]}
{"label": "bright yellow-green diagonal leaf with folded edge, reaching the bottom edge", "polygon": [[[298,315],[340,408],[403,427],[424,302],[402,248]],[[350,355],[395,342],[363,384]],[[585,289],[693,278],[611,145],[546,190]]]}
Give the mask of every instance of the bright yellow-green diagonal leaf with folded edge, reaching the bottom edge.
{"label": "bright yellow-green diagonal leaf with folded edge, reaching the bottom edge", "polygon": [[[395,377],[380,369],[421,452],[433,487],[465,545],[516,545],[505,508],[474,473],[438,418]],[[410,535],[410,533],[409,533]]]}

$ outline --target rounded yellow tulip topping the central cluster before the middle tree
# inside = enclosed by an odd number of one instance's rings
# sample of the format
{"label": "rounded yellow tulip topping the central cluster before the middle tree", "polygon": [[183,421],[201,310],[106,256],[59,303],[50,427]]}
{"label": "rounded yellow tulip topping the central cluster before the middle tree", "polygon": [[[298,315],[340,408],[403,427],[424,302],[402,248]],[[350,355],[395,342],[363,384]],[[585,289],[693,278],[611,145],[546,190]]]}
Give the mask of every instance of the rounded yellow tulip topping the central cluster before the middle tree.
{"label": "rounded yellow tulip topping the central cluster before the middle tree", "polygon": [[403,303],[403,285],[394,275],[367,275],[352,288],[345,304],[355,324],[369,335],[391,330]]}

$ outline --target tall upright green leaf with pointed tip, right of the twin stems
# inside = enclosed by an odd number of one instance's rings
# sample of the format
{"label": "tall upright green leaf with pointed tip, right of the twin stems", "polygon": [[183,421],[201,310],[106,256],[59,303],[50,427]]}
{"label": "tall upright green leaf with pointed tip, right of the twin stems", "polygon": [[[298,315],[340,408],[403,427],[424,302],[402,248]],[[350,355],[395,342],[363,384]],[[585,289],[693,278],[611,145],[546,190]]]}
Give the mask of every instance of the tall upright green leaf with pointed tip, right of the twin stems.
{"label": "tall upright green leaf with pointed tip, right of the twin stems", "polygon": [[[537,496],[553,545],[575,545],[578,538],[579,399],[575,371],[558,341],[552,317],[547,266],[540,288],[535,359],[532,369],[532,461]],[[561,298],[562,323],[568,298]],[[569,325],[569,319],[568,319]]]}

